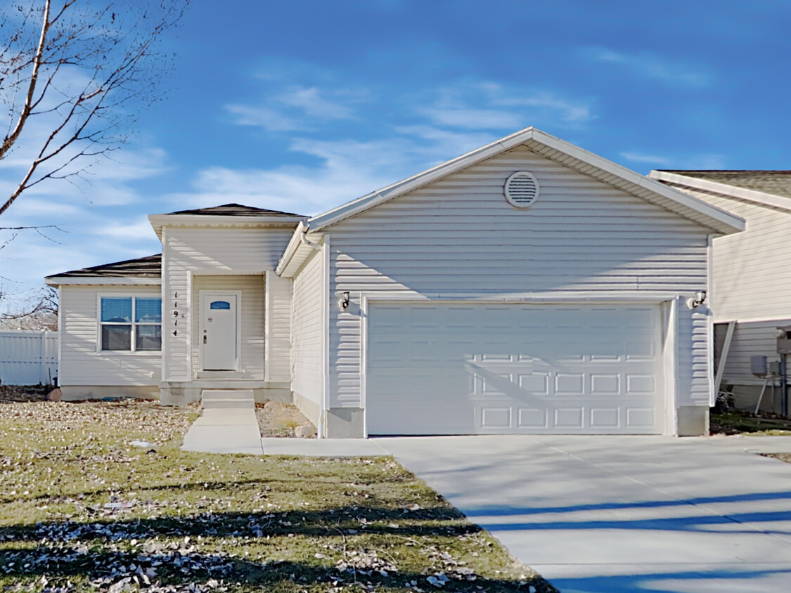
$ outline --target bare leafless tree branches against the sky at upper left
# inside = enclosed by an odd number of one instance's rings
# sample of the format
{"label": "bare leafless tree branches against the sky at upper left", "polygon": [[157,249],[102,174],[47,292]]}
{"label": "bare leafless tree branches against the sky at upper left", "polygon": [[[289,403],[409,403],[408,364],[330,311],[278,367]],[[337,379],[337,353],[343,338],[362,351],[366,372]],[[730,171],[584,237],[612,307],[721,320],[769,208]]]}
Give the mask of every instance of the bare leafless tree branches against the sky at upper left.
{"label": "bare leafless tree branches against the sky at upper left", "polygon": [[157,47],[190,0],[28,2],[21,23],[0,17],[0,32],[13,27],[0,47],[0,105],[9,115],[0,160],[25,152],[21,179],[0,199],[0,215],[39,183],[84,179],[96,157],[123,145],[138,109],[161,100],[169,58]]}

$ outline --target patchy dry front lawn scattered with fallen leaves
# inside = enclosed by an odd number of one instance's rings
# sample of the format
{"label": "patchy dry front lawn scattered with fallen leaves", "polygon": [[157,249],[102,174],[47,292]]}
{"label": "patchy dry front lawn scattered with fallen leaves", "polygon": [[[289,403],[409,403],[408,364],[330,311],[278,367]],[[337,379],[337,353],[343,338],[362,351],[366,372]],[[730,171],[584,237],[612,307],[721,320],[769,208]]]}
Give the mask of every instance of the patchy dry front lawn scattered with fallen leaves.
{"label": "patchy dry front lawn scattered with fallen leaves", "polygon": [[0,403],[0,591],[553,591],[392,459],[180,451],[193,417]]}

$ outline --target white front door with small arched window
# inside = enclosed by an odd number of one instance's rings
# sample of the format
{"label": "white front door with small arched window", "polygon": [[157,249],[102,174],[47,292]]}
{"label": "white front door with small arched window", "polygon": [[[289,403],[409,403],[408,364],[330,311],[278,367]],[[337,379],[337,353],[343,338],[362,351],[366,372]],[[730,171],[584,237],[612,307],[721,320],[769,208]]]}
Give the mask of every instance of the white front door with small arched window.
{"label": "white front door with small arched window", "polygon": [[238,296],[201,292],[200,349],[204,371],[237,370]]}

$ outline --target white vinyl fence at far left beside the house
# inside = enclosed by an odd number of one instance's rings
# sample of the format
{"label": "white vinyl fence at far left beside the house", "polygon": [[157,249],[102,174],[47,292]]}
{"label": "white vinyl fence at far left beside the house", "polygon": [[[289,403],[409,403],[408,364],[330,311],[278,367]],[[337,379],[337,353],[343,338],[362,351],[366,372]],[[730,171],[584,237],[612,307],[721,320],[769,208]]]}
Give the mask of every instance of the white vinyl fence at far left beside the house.
{"label": "white vinyl fence at far left beside the house", "polygon": [[3,385],[50,384],[58,376],[58,332],[0,331]]}

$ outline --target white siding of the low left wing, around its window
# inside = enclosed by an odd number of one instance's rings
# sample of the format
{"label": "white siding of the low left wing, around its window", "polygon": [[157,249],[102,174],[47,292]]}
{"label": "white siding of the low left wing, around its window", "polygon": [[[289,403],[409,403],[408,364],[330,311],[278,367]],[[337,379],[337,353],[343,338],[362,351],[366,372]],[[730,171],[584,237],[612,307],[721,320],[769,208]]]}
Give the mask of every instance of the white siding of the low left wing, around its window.
{"label": "white siding of the low left wing, around its window", "polygon": [[70,385],[157,385],[161,353],[156,351],[97,352],[100,339],[98,295],[160,296],[159,286],[62,286],[59,315],[59,383]]}

